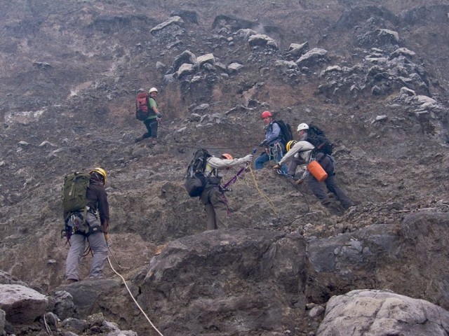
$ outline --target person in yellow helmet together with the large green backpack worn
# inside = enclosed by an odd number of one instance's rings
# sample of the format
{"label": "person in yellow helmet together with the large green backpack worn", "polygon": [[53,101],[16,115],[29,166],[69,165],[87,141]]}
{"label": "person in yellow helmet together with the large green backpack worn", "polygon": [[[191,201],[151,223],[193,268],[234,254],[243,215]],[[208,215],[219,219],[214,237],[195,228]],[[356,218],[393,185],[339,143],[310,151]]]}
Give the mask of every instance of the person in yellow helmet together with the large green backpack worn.
{"label": "person in yellow helmet together with the large green backpack worn", "polygon": [[[67,175],[62,190],[65,235],[70,242],[65,267],[66,283],[74,283],[80,279],[79,264],[86,241],[93,253],[89,279],[101,278],[107,260],[109,239],[107,234],[109,203],[105,190],[107,174],[105,169],[98,167],[89,172],[88,181],[86,175],[80,173]],[[74,209],[82,205],[81,209]]]}

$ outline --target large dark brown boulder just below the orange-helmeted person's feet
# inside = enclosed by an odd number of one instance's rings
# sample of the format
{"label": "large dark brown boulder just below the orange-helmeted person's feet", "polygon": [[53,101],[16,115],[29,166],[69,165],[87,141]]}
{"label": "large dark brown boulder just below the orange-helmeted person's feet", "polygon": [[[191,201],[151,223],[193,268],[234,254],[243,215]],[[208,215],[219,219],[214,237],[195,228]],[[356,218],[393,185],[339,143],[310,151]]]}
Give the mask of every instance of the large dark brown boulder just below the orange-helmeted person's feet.
{"label": "large dark brown boulder just below the orange-helmeted person's feet", "polygon": [[135,281],[164,334],[243,335],[294,328],[305,269],[299,235],[227,229],[170,242]]}

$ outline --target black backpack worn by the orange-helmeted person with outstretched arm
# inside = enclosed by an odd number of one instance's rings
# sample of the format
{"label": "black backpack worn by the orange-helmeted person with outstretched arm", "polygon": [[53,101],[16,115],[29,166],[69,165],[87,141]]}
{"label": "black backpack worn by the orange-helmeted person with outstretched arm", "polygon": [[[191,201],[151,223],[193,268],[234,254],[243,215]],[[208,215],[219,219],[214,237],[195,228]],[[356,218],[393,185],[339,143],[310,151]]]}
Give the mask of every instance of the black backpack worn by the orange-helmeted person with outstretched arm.
{"label": "black backpack worn by the orange-helmeted person with outstretched arm", "polygon": [[190,197],[197,197],[203,193],[206,187],[207,178],[204,176],[206,163],[212,155],[204,148],[194,151],[194,157],[187,167],[187,176],[185,177],[185,190]]}

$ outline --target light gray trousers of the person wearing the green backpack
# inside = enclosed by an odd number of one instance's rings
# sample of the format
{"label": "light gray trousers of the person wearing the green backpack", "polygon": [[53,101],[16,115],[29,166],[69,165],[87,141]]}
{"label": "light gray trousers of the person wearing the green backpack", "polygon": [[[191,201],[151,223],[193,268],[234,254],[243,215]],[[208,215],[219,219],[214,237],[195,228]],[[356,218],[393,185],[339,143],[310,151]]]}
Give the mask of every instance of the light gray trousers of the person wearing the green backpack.
{"label": "light gray trousers of the person wearing the green backpack", "polygon": [[[100,226],[98,218],[90,212],[87,213],[86,221],[91,227]],[[81,231],[87,230],[87,225],[83,225],[79,229]],[[88,237],[74,234],[70,237],[70,248],[65,264],[65,276],[67,279],[79,280],[79,264],[86,248],[86,240],[89,242],[93,253],[89,278],[98,278],[102,274],[108,253],[105,235],[102,232],[93,233],[88,235]]]}

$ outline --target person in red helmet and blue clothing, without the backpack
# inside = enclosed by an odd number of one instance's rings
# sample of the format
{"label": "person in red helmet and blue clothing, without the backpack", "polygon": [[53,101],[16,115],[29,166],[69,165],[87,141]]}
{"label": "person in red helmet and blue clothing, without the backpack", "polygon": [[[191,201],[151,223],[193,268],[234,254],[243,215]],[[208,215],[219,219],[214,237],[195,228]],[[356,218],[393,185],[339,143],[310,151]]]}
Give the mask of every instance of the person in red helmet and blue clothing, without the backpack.
{"label": "person in red helmet and blue clothing, without the backpack", "polygon": [[[256,170],[262,169],[264,164],[270,160],[279,162],[283,157],[283,148],[286,145],[282,140],[281,127],[273,120],[272,113],[270,111],[264,111],[260,118],[262,118],[265,124],[265,139],[259,146],[264,147],[265,151],[255,159],[254,167]],[[285,172],[286,167],[282,167],[282,170]]]}

